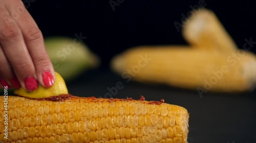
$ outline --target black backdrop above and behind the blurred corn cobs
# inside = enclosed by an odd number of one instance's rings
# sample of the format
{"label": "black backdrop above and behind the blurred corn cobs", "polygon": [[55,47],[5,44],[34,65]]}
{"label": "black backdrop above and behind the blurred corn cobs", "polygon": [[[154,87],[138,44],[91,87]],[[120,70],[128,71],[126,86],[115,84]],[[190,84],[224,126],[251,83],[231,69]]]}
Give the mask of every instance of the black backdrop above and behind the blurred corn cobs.
{"label": "black backdrop above and behind the blurred corn cobs", "polygon": [[[44,36],[74,37],[82,33],[105,68],[113,55],[132,46],[186,44],[174,22],[181,22],[181,14],[187,15],[189,6],[199,3],[123,0],[113,11],[109,1],[33,1],[28,10]],[[205,0],[205,4],[205,8],[216,13],[240,48],[245,38],[256,41],[255,1]]]}

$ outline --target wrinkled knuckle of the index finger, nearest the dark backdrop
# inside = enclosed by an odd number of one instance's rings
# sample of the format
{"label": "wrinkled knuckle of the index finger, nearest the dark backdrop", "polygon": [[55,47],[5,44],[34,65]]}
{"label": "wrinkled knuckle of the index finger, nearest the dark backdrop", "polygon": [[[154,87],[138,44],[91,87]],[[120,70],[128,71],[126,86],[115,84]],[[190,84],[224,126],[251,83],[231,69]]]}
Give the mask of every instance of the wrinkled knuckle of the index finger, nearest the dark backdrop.
{"label": "wrinkled knuckle of the index finger, nearest the dark backdrop", "polygon": [[27,42],[32,42],[34,40],[39,40],[42,39],[42,33],[39,30],[39,28],[32,26],[32,27],[28,27],[25,30],[25,40]]}

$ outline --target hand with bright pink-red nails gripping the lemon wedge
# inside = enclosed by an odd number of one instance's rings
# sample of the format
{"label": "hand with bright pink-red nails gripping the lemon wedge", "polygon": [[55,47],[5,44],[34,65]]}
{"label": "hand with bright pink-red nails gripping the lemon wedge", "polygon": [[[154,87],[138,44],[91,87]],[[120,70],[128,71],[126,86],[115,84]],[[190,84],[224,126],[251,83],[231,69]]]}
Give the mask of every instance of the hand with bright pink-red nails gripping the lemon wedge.
{"label": "hand with bright pink-red nails gripping the lemon wedge", "polygon": [[0,4],[0,87],[51,87],[54,69],[36,22],[22,1]]}

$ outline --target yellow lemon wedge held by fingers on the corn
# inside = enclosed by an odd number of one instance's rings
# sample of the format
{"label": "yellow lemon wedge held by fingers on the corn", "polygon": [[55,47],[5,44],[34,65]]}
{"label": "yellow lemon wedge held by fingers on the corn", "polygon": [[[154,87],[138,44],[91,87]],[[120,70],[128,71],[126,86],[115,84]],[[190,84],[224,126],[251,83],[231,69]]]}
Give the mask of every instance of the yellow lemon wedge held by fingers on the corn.
{"label": "yellow lemon wedge held by fingers on the corn", "polygon": [[38,85],[38,88],[34,91],[26,91],[24,88],[19,88],[14,90],[14,94],[28,98],[48,98],[61,94],[68,94],[68,89],[64,79],[55,72],[55,83],[52,87],[44,88],[41,85]]}

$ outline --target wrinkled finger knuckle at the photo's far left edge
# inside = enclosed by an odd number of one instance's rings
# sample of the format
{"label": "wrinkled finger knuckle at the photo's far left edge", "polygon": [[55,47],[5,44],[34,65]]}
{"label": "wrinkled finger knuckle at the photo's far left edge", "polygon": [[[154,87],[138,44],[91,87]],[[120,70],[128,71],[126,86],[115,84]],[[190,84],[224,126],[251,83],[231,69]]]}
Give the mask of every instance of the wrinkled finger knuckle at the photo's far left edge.
{"label": "wrinkled finger knuckle at the photo's far left edge", "polygon": [[1,33],[2,39],[9,39],[9,38],[16,38],[20,36],[20,29],[15,24],[10,24],[6,27],[4,27],[4,30]]}

